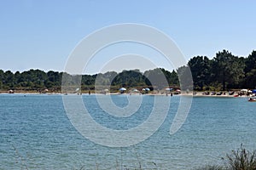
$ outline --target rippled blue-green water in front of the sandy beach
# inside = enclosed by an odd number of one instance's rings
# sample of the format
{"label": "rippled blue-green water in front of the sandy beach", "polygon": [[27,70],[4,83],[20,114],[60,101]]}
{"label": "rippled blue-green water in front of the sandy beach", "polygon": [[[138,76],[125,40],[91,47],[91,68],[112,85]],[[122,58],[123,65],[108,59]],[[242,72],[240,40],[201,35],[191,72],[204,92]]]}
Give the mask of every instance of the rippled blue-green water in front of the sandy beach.
{"label": "rippled blue-green water in front of the sandy beach", "polygon": [[[143,96],[136,114],[117,118],[101,110],[95,95],[83,95],[83,99],[96,122],[113,129],[141,124],[154,103],[154,96]],[[112,99],[116,105],[127,105],[125,95]],[[149,139],[130,147],[109,148],[76,131],[61,95],[0,94],[0,169],[125,169],[140,165],[143,169],[191,169],[221,163],[221,157],[241,143],[256,149],[256,103],[245,98],[195,97],[183,127],[170,135],[178,101],[178,96],[172,97],[166,121]]]}

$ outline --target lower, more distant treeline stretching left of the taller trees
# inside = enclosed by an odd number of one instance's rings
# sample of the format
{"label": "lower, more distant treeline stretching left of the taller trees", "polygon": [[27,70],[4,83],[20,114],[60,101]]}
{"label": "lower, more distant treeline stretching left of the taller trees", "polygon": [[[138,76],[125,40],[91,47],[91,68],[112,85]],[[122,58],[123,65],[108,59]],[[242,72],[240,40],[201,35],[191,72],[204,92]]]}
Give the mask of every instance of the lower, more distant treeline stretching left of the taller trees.
{"label": "lower, more distant treeline stretching left of the taller trees", "polygon": [[[0,89],[1,90],[35,90],[42,91],[49,89],[52,92],[61,91],[61,78],[65,77],[67,85],[73,86],[74,82],[81,82],[82,90],[93,90],[96,84],[111,86],[113,90],[118,90],[121,87],[125,88],[154,88],[147,77],[156,75],[162,72],[166,77],[167,82],[172,87],[178,87],[178,79],[176,71],[166,71],[165,69],[154,69],[145,71],[143,74],[139,70],[122,71],[117,73],[115,71],[108,71],[104,74],[96,75],[69,75],[67,73],[58,71],[40,71],[30,70],[15,73],[11,71],[0,70]],[[145,76],[148,75],[148,76]],[[157,77],[157,76],[155,76]],[[167,84],[167,83],[166,83]],[[168,84],[167,84],[168,85]],[[160,88],[160,87],[158,87]],[[164,88],[164,87],[161,87]]]}

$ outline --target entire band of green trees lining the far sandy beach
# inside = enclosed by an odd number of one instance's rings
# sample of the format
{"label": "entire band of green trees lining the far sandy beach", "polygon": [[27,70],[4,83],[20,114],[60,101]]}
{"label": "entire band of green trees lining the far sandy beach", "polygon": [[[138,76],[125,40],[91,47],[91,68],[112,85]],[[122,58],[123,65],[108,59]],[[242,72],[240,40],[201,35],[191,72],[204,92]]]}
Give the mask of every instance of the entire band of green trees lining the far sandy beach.
{"label": "entire band of green trees lining the far sandy beach", "polygon": [[[247,57],[238,57],[228,50],[219,51],[212,59],[207,56],[195,56],[189,59],[187,65],[179,67],[176,71],[166,71],[163,68],[141,72],[131,71],[108,71],[104,74],[82,75],[81,89],[94,90],[96,77],[102,78],[103,84],[111,84],[111,90],[124,88],[151,88],[148,77],[159,77],[164,74],[171,88],[180,88],[179,80],[183,78],[185,71],[190,71],[193,77],[194,90],[196,91],[224,91],[238,88],[256,88],[256,51],[253,50]],[[42,91],[49,89],[50,92],[61,91],[61,77],[65,74],[72,82],[75,77],[58,71],[3,71],[0,70],[0,90],[26,90]],[[182,81],[183,82],[183,81]],[[72,83],[71,83],[72,85]],[[166,88],[166,87],[158,87]]]}

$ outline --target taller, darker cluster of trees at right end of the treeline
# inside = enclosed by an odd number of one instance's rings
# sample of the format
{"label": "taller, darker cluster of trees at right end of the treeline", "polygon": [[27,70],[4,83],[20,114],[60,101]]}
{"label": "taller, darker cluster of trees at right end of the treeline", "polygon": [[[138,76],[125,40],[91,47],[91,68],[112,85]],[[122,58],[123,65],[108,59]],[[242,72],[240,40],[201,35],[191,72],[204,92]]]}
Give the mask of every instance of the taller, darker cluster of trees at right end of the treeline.
{"label": "taller, darker cluster of trees at right end of the treeline", "polygon": [[189,59],[188,65],[195,90],[256,88],[256,51],[244,58],[223,50],[213,59],[207,56]]}

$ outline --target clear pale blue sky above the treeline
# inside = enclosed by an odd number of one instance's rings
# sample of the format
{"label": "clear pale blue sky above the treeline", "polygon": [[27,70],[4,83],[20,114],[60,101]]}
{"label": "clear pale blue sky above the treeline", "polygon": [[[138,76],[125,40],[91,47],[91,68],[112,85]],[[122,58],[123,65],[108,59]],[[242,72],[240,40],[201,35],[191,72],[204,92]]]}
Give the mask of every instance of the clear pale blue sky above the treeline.
{"label": "clear pale blue sky above the treeline", "polygon": [[[164,32],[187,61],[197,55],[212,59],[223,49],[247,57],[256,49],[255,6],[254,0],[0,0],[0,69],[64,71],[68,57],[84,37],[122,23]],[[84,72],[104,70],[104,62],[110,59],[105,56],[129,54],[129,49],[133,49],[130,54],[147,55],[154,65],[172,69],[163,56],[149,53],[152,49],[129,43],[113,46],[97,54]],[[140,60],[133,63],[141,63],[142,70],[149,68],[143,68]],[[117,71],[126,69],[119,67]]]}

